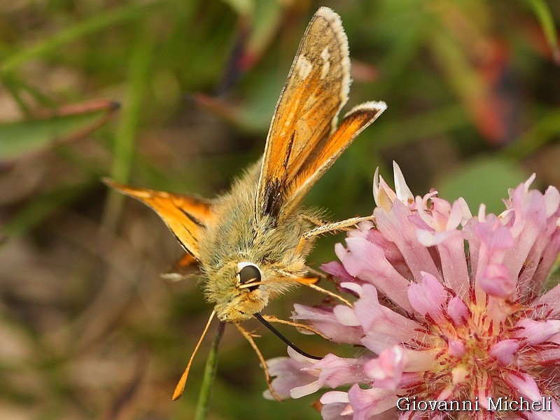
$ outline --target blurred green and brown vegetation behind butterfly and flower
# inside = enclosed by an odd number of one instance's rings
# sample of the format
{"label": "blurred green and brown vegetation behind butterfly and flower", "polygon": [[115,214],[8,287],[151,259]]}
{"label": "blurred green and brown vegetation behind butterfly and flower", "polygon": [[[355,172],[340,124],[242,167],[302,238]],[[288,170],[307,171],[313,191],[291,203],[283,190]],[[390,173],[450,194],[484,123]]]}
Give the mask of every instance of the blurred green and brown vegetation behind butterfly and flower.
{"label": "blurred green and brown vegetation behind butterfly and flower", "polygon": [[[2,419],[192,418],[211,337],[183,398],[169,397],[211,307],[195,281],[160,279],[181,249],[158,216],[99,179],[207,197],[228,188],[262,153],[318,6],[349,37],[346,110],[388,110],[309,204],[332,219],[371,214],[374,169],[392,184],[392,160],[415,194],[463,196],[473,212],[501,211],[533,172],[538,188],[560,186],[558,1],[3,1]],[[321,239],[309,264],[334,260],[342,239]],[[286,318],[321,299],[300,290],[266,312]],[[356,351],[281,329],[310,353]],[[286,353],[258,332],[266,358]],[[272,402],[265,387],[227,328],[210,418],[318,418],[316,396]]]}

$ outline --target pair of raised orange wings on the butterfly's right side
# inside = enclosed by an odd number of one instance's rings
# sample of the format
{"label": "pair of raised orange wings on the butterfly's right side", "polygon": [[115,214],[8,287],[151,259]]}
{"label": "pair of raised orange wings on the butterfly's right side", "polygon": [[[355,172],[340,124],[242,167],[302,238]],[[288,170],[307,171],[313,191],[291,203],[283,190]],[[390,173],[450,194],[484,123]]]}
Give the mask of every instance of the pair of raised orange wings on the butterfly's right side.
{"label": "pair of raised orange wings on the butterfly's right side", "polygon": [[329,8],[320,8],[305,31],[272,118],[258,181],[257,217],[280,221],[290,214],[353,138],[384,110],[382,102],[363,104],[335,131],[349,85],[342,22]]}

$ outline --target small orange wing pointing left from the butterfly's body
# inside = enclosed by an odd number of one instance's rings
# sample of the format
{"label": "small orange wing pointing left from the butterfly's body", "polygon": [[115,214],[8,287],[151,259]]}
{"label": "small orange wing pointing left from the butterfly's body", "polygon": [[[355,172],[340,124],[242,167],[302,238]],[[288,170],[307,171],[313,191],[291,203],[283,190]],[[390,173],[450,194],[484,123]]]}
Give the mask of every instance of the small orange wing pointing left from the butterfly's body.
{"label": "small orange wing pointing left from the butterfly's body", "polygon": [[201,230],[214,219],[210,202],[187,195],[125,186],[109,179],[103,181],[108,186],[151,207],[162,218],[185,251],[199,259],[198,241]]}

